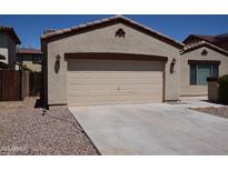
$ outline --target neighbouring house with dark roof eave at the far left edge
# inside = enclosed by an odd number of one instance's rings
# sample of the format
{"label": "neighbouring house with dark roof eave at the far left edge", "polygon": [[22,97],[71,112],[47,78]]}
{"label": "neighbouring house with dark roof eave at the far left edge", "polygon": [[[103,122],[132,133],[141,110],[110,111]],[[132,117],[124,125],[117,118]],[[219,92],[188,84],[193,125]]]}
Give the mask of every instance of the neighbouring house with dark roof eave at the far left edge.
{"label": "neighbouring house with dark roof eave at the far left edge", "polygon": [[0,26],[0,66],[16,68],[16,47],[20,43],[13,28]]}

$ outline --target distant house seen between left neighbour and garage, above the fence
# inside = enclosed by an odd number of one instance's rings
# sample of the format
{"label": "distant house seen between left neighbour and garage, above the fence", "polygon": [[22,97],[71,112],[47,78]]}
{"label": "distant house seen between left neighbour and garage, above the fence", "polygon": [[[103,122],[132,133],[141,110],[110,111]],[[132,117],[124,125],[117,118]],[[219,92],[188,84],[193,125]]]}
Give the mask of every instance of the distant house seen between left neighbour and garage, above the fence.
{"label": "distant house seen between left neighbour and garage, above the fence", "polygon": [[17,62],[30,69],[31,71],[40,72],[43,53],[38,49],[18,48]]}

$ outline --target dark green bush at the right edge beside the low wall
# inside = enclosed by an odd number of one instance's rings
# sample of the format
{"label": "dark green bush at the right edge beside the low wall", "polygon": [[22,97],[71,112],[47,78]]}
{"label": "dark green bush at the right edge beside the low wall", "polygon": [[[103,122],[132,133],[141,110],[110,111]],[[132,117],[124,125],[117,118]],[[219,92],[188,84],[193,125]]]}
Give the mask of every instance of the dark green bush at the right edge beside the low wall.
{"label": "dark green bush at the right edge beside the low wall", "polygon": [[218,79],[219,83],[219,99],[222,103],[228,103],[228,74],[225,74]]}

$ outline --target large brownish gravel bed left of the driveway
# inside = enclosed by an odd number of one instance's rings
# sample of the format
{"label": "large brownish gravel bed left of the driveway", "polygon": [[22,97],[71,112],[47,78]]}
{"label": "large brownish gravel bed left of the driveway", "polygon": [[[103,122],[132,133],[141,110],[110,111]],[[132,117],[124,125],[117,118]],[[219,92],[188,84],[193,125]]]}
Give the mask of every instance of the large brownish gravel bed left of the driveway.
{"label": "large brownish gravel bed left of the driveway", "polygon": [[98,154],[70,111],[0,109],[0,154]]}

